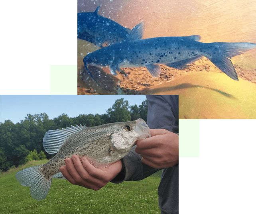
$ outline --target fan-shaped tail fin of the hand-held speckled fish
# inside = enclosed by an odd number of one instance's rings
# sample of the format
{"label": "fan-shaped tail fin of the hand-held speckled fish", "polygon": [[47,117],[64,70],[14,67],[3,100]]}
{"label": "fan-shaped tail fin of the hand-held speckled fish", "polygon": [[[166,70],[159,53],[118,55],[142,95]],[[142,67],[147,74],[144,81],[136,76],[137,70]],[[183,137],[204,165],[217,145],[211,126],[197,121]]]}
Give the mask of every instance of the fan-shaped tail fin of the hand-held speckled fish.
{"label": "fan-shaped tail fin of the hand-held speckled fish", "polygon": [[51,179],[45,181],[39,168],[41,165],[29,167],[16,173],[16,180],[25,187],[30,187],[30,194],[36,200],[45,199],[51,187]]}

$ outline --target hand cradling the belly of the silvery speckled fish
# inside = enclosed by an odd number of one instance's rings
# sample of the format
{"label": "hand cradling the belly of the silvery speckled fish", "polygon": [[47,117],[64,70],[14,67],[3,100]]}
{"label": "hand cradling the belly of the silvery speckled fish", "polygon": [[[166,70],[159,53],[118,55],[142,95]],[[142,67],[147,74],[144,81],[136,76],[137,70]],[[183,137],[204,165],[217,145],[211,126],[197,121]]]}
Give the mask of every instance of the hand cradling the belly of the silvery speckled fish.
{"label": "hand cradling the belly of the silvery speckled fish", "polygon": [[60,167],[60,171],[71,184],[93,190],[104,187],[122,170],[120,160],[105,168],[95,168],[86,157],[80,158],[78,155],[66,158],[65,164]]}

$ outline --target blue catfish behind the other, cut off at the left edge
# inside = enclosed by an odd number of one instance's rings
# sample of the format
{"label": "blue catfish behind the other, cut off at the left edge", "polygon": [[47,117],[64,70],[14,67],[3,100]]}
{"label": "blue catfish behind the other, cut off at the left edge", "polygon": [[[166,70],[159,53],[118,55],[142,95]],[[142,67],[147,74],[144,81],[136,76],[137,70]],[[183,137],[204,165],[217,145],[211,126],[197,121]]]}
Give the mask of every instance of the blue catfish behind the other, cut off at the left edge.
{"label": "blue catfish behind the other, cut off at the left edge", "polygon": [[99,9],[100,6],[92,13],[77,13],[77,38],[89,40],[98,47],[126,39],[131,30],[98,15]]}

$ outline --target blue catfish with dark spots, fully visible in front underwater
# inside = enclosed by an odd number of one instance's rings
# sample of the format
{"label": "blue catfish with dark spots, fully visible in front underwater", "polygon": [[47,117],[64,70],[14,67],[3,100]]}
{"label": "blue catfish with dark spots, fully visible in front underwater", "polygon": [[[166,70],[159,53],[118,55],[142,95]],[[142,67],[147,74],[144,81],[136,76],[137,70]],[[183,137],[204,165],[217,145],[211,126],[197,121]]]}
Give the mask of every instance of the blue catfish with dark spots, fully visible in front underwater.
{"label": "blue catfish with dark spots, fully visible in front underwater", "polygon": [[202,43],[199,35],[142,39],[143,31],[141,22],[124,41],[89,53],[83,59],[85,69],[89,71],[87,65],[108,66],[117,75],[122,67],[146,67],[153,77],[159,77],[158,64],[183,70],[205,56],[228,77],[238,80],[230,58],[256,48],[254,43]]}

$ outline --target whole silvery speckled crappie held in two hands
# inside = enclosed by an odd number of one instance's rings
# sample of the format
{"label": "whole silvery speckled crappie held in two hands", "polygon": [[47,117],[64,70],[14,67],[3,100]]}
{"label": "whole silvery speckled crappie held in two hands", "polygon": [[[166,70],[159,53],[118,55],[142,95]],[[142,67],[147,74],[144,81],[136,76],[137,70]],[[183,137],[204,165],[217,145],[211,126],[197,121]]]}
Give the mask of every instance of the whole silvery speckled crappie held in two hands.
{"label": "whole silvery speckled crappie held in two hands", "polygon": [[85,156],[95,167],[106,167],[127,155],[138,139],[150,137],[150,129],[142,119],[103,124],[87,128],[71,126],[50,130],[43,137],[43,147],[49,154],[57,153],[49,162],[16,173],[17,181],[30,187],[36,200],[44,199],[52,178],[63,178],[59,168],[64,159],[77,154]]}

